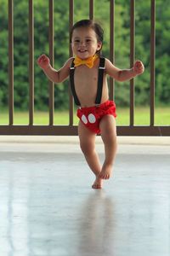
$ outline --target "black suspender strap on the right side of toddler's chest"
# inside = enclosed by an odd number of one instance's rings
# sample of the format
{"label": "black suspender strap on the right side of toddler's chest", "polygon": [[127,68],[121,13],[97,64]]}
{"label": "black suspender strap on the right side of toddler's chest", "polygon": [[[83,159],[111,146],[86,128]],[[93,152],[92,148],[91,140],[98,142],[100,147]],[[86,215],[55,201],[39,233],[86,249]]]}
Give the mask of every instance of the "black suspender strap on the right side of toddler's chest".
{"label": "black suspender strap on the right side of toddler's chest", "polygon": [[95,99],[95,104],[100,104],[100,102],[101,102],[101,96],[102,96],[102,90],[103,90],[104,70],[105,70],[105,58],[100,57],[99,58],[98,90],[97,90],[97,96],[96,96],[96,99]]}

